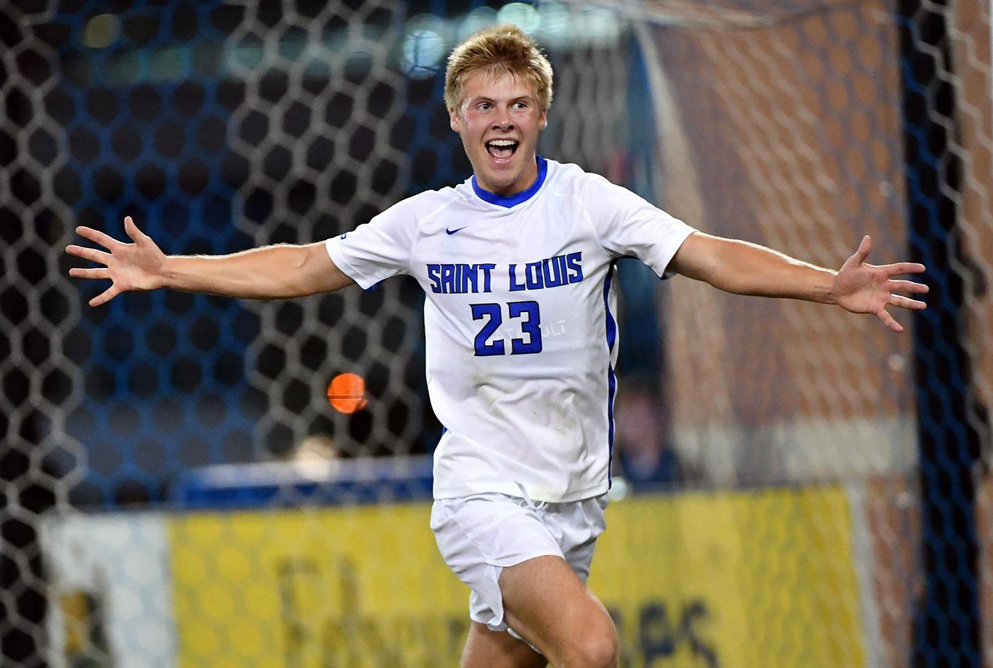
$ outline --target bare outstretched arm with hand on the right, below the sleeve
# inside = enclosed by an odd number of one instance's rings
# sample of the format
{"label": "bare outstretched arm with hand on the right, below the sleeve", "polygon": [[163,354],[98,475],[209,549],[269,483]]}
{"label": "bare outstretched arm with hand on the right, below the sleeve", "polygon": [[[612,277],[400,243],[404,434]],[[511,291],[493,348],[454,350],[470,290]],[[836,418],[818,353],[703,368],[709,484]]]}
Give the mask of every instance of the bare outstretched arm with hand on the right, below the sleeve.
{"label": "bare outstretched arm with hand on the right, below the sleeve", "polygon": [[927,286],[893,277],[921,273],[924,266],[916,262],[868,264],[865,260],[871,249],[872,239],[867,235],[841,269],[832,271],[765,246],[694,232],[669,266],[727,292],[836,304],[852,313],[873,314],[894,332],[903,332],[886,308],[926,308],[923,302],[896,293],[925,293]]}

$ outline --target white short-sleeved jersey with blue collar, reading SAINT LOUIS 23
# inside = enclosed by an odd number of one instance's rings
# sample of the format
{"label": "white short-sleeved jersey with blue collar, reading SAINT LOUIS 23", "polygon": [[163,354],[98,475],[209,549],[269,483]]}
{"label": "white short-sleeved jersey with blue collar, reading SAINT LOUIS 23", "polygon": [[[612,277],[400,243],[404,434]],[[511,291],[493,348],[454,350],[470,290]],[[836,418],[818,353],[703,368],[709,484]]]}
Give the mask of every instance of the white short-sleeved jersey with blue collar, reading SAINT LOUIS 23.
{"label": "white short-sleeved jersey with blue collar, reading SAINT LOUIS 23", "polygon": [[427,294],[431,405],[445,427],[434,496],[572,501],[610,487],[614,263],[659,276],[693,229],[575,165],[538,158],[527,191],[475,178],[400,201],[329,239],[362,288],[410,274]]}

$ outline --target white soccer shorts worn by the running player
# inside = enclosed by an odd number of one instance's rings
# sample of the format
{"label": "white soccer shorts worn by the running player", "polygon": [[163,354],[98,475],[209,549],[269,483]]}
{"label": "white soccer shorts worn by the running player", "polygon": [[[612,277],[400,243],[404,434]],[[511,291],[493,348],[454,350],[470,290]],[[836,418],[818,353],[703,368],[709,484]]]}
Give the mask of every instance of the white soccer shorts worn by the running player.
{"label": "white soccer shorts worn by the running player", "polygon": [[508,566],[554,555],[586,582],[597,537],[603,533],[607,495],[565,503],[534,502],[499,493],[437,499],[431,530],[449,568],[469,585],[469,617],[495,631],[520,636],[503,620],[499,575]]}

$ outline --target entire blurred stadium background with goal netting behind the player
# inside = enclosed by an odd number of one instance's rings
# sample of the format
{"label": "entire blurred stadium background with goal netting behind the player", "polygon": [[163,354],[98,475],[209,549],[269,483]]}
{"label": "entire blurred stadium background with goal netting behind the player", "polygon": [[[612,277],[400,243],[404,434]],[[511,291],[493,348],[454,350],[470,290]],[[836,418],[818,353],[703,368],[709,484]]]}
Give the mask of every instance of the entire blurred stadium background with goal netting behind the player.
{"label": "entire blurred stadium background with goal netting behind the player", "polygon": [[896,336],[622,263],[631,470],[593,583],[624,665],[993,665],[989,13],[4,5],[0,661],[454,665],[416,286],[90,310],[63,249],[125,214],[173,253],[307,242],[462,181],[440,67],[513,21],[556,71],[543,155],[826,266],[870,233],[932,288]]}

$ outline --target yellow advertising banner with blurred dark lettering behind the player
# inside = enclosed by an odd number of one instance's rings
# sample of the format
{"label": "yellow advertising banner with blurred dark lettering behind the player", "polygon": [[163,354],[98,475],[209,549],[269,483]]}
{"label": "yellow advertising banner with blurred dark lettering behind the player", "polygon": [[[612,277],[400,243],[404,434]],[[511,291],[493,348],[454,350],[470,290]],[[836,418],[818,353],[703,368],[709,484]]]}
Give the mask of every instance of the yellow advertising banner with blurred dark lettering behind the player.
{"label": "yellow advertising banner with blurred dark lettering behind the player", "polygon": [[[843,490],[641,497],[608,509],[590,585],[622,666],[864,666]],[[429,504],[170,520],[179,665],[457,666],[469,590]]]}

